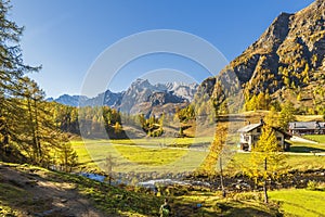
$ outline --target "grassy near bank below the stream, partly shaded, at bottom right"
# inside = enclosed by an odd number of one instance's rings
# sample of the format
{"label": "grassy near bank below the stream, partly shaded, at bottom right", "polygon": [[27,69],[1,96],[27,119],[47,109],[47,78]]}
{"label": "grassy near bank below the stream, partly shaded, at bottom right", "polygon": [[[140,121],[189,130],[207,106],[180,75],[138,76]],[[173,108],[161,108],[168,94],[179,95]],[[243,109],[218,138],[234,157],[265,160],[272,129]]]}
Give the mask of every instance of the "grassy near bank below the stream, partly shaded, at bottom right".
{"label": "grassy near bank below the stream, partly shaded, at bottom right", "polygon": [[176,205],[203,204],[199,212],[187,216],[285,216],[321,217],[325,214],[325,192],[304,189],[270,191],[270,204],[262,203],[261,192],[235,193],[222,199],[221,193],[191,192],[179,196]]}

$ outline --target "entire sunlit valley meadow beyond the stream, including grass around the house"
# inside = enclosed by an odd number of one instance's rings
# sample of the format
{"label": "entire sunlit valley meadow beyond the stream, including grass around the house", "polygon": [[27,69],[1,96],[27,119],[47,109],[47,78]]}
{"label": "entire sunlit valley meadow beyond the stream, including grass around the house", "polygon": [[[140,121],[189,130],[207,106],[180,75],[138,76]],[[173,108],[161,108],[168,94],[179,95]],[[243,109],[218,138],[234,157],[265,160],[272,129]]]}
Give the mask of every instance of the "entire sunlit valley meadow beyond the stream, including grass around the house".
{"label": "entire sunlit valley meadow beyond the stream, including grass around the house", "polygon": [[[316,139],[322,137],[316,137]],[[114,171],[162,171],[182,173],[192,171],[203,162],[208,149],[187,149],[194,142],[207,143],[209,138],[200,141],[193,138],[170,139],[159,138],[154,140],[86,140],[73,141],[73,148],[79,156],[80,169],[105,170],[106,158],[113,159]],[[176,144],[176,145],[171,145]],[[178,146],[185,148],[173,148]],[[290,169],[318,169],[325,168],[325,156],[312,155],[311,152],[325,152],[324,144],[294,143],[291,152],[286,153],[285,162]],[[309,154],[309,155],[306,155]],[[229,171],[242,170],[248,164],[249,153],[235,153],[231,155],[232,164]]]}

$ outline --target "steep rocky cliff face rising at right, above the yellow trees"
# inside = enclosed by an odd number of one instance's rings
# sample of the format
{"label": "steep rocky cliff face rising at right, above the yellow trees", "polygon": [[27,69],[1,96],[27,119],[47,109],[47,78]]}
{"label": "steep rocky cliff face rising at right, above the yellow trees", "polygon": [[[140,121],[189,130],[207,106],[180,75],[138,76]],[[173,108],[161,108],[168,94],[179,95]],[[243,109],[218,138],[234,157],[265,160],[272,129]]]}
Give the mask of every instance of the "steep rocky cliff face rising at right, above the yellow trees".
{"label": "steep rocky cliff face rising at right, above the yellow trees", "polygon": [[[295,13],[280,14],[262,36],[200,90],[214,98],[239,89],[244,94],[275,93],[284,88],[324,87],[325,1]],[[222,92],[216,92],[220,80]]]}

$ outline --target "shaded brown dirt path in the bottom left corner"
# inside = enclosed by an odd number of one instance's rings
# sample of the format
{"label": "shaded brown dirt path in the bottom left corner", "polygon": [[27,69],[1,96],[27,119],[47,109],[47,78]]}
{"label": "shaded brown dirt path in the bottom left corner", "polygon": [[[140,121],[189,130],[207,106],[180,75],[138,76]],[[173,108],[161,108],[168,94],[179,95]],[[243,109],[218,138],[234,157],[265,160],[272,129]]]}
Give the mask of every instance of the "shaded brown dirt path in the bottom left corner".
{"label": "shaded brown dirt path in the bottom left corner", "polygon": [[40,169],[24,171],[0,164],[0,205],[10,206],[16,216],[105,216],[78,193],[75,183],[49,177]]}

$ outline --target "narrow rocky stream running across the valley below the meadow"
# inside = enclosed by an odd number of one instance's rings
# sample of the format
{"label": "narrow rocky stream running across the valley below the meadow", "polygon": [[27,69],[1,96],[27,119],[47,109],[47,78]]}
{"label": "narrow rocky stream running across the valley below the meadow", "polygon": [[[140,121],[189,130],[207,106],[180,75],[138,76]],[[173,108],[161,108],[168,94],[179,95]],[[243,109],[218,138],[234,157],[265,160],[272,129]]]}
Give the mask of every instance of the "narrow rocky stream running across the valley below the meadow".
{"label": "narrow rocky stream running across the valley below the meadow", "polygon": [[[79,176],[87,177],[92,180],[106,182],[108,183],[107,177],[99,174],[91,174],[91,173],[79,173]],[[151,176],[148,176],[151,175]],[[165,178],[166,177],[166,178]],[[315,170],[307,170],[307,171],[289,171],[289,175],[283,176],[280,178],[277,182],[272,182],[272,189],[282,189],[282,188],[306,188],[308,182],[325,181],[325,169],[315,169]],[[255,186],[251,180],[246,177],[224,177],[225,187],[229,190],[234,191],[243,191],[243,190],[251,190]],[[150,189],[152,191],[156,191],[159,187],[169,187],[169,186],[186,186],[186,187],[204,187],[210,189],[220,189],[220,180],[218,177],[211,180],[188,180],[188,176],[185,175],[174,175],[166,174],[161,176],[153,176],[153,174],[122,174],[118,173],[110,182],[112,186],[136,186]]]}

